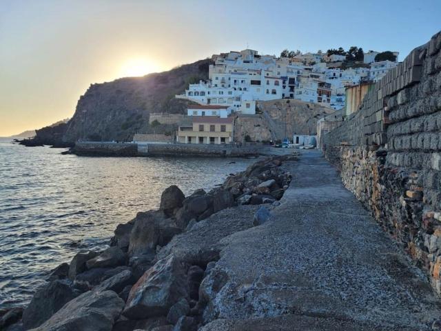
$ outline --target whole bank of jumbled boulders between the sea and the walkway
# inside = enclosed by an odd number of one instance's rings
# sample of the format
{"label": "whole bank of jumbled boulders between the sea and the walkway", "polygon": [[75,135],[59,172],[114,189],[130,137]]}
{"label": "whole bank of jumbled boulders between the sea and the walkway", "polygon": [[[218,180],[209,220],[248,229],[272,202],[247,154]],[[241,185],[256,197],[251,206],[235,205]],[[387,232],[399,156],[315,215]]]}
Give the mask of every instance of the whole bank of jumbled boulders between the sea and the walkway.
{"label": "whole bank of jumbled boulders between the sea and the walkway", "polygon": [[296,159],[258,161],[188,197],[170,186],[159,210],[117,226],[110,248],[79,252],[50,272],[27,307],[0,310],[0,330],[202,328],[216,319],[223,279],[212,270],[223,239],[269,219],[291,181],[283,163]]}

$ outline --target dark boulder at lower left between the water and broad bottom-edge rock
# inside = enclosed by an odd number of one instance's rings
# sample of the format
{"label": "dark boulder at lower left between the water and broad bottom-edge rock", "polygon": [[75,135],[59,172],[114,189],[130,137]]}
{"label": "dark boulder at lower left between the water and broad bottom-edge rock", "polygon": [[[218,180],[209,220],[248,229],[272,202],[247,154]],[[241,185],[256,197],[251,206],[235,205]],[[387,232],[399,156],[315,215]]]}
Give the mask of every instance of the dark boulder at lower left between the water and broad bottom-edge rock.
{"label": "dark boulder at lower left between the water and broad bottom-edge rock", "polygon": [[56,280],[44,285],[35,292],[23,311],[23,326],[26,330],[37,328],[79,294],[81,292],[74,289],[68,280]]}

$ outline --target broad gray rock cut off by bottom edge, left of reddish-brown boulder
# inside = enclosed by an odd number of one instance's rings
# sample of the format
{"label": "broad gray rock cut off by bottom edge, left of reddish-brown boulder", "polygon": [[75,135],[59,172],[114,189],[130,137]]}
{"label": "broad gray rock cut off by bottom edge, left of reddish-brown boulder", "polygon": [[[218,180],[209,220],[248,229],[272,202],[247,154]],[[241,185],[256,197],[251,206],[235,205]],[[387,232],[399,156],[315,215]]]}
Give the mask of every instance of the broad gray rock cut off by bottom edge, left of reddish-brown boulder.
{"label": "broad gray rock cut off by bottom edge, left of reddish-brown boulder", "polygon": [[85,292],[33,331],[111,331],[123,307],[113,291]]}

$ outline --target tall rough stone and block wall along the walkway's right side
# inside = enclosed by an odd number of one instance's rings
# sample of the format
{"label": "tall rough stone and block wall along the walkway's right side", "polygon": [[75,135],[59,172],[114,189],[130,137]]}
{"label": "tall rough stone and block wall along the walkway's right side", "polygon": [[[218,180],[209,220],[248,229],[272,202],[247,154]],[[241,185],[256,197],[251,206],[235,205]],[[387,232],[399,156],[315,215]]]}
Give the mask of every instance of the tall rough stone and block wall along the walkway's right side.
{"label": "tall rough stone and block wall along the walkway's right side", "polygon": [[345,186],[427,270],[441,294],[441,33],[323,137]]}

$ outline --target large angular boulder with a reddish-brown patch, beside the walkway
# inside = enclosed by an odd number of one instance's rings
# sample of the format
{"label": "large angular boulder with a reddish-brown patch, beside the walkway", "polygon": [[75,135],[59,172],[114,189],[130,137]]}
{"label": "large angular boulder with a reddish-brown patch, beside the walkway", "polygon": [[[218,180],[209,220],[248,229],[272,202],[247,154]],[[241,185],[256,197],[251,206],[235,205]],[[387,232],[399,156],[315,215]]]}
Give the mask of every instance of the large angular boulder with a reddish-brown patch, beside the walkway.
{"label": "large angular boulder with a reddish-brown patch, beside the walkway", "polygon": [[170,255],[156,262],[133,285],[123,314],[129,319],[165,316],[172,305],[187,296],[185,266]]}

